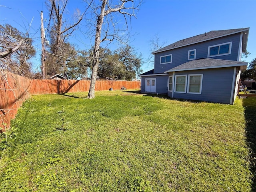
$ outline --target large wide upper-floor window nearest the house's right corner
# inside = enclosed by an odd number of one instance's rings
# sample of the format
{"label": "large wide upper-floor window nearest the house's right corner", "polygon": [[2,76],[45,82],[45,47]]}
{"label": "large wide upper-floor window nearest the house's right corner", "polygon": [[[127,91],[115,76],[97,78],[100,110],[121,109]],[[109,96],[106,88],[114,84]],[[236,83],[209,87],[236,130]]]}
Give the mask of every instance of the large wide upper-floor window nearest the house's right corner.
{"label": "large wide upper-floor window nearest the house's right corner", "polygon": [[229,55],[229,54],[231,54],[231,46],[232,46],[232,42],[209,46],[208,47],[208,57]]}

